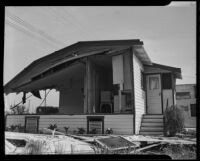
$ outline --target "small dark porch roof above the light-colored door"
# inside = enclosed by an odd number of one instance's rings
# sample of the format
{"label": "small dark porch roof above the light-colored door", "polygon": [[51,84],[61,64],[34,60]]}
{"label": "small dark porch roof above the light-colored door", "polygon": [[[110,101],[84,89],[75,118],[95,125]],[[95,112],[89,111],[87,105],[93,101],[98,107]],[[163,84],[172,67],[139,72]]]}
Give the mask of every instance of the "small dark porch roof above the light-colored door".
{"label": "small dark porch roof above the light-colored door", "polygon": [[181,68],[175,68],[175,67],[171,67],[171,66],[157,64],[157,63],[152,63],[152,65],[145,65],[145,66],[169,71],[172,74],[174,74],[175,78],[182,79]]}

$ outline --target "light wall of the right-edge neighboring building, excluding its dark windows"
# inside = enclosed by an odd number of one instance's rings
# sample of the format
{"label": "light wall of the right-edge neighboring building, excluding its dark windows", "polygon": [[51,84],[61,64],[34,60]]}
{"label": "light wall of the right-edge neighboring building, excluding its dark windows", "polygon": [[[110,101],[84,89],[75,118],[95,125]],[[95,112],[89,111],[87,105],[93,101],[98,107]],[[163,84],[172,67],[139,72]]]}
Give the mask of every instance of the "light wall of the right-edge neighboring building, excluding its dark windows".
{"label": "light wall of the right-edge neighboring building, excluding its dark windows", "polygon": [[[191,116],[191,104],[196,104],[195,85],[176,85],[176,92],[189,92],[188,97],[176,97],[176,104],[184,111],[185,127],[195,128],[196,117]],[[196,106],[197,107],[197,106]]]}

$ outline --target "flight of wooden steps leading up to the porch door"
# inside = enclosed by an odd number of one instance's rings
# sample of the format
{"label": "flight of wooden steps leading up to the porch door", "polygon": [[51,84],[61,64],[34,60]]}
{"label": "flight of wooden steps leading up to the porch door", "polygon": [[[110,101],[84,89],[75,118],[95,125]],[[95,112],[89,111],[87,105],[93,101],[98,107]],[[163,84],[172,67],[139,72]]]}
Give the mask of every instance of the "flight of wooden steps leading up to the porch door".
{"label": "flight of wooden steps leading up to the porch door", "polygon": [[140,135],[163,135],[163,115],[143,115]]}

